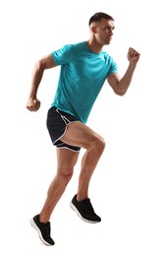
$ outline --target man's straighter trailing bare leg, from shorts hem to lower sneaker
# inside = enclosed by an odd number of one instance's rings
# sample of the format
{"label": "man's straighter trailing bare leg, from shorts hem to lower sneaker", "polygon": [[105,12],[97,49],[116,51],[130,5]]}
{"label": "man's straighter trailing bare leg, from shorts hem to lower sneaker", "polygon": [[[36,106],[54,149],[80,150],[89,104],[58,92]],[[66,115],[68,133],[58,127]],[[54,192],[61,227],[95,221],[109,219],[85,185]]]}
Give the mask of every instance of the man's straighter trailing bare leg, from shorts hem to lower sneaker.
{"label": "man's straighter trailing bare leg, from shorts hem to lower sneaker", "polygon": [[78,158],[79,152],[76,153],[66,149],[57,150],[57,173],[49,186],[46,201],[39,215],[41,223],[49,222],[56,204],[72,178]]}

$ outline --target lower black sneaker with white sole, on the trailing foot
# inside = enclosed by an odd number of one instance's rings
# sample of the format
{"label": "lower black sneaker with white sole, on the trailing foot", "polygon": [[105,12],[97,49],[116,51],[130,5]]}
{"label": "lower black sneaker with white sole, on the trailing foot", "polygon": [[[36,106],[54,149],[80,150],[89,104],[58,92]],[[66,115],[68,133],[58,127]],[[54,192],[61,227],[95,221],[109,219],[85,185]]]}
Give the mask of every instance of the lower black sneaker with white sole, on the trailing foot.
{"label": "lower black sneaker with white sole, on the trailing foot", "polygon": [[34,216],[29,223],[38,232],[39,238],[46,245],[54,245],[53,239],[50,237],[50,222],[44,224],[39,222],[39,215]]}

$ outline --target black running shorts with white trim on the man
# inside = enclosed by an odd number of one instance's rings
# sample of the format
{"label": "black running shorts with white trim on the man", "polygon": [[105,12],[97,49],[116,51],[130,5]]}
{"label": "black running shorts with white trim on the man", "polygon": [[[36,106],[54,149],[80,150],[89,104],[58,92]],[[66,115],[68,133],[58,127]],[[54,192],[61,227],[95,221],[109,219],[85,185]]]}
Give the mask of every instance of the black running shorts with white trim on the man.
{"label": "black running shorts with white trim on the man", "polygon": [[74,152],[81,150],[80,147],[68,145],[60,140],[67,130],[67,125],[76,121],[79,121],[79,119],[74,115],[61,111],[55,106],[52,106],[48,110],[46,120],[47,129],[53,145],[58,149],[69,149]]}

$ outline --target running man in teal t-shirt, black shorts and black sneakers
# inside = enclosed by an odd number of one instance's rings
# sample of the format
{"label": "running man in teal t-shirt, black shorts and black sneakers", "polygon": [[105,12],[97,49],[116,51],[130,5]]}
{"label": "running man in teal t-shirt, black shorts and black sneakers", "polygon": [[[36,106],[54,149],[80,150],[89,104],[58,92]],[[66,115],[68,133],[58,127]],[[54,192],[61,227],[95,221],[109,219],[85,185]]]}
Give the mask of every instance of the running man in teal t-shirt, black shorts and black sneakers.
{"label": "running man in teal t-shirt, black shorts and black sneakers", "polygon": [[114,28],[111,16],[96,13],[89,20],[90,38],[87,41],[65,45],[37,61],[34,67],[27,100],[30,111],[40,107],[36,95],[43,72],[61,65],[57,91],[47,115],[47,128],[53,145],[57,147],[57,172],[42,210],[30,220],[46,245],[54,244],[50,235],[50,217],[73,175],[81,148],[85,149],[85,153],[78,191],[70,205],[83,221],[101,221],[88,198],[88,186],[105,142],[85,123],[105,80],[115,94],[126,94],[139,59],[138,51],[129,48],[129,66],[123,78],[120,78],[115,61],[102,50],[104,45],[111,42]]}

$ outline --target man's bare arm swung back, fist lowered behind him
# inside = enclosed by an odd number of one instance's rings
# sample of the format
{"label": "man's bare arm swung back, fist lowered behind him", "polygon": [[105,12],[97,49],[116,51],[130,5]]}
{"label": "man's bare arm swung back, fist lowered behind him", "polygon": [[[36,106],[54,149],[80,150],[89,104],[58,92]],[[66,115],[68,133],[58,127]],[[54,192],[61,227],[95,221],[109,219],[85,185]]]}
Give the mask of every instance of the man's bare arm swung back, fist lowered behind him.
{"label": "man's bare arm swung back, fist lowered behind him", "polygon": [[54,67],[56,67],[56,64],[51,54],[41,58],[36,62],[31,79],[31,88],[27,99],[27,109],[29,111],[36,111],[39,109],[40,101],[37,99],[36,95],[43,76],[43,72],[45,69],[50,69]]}

